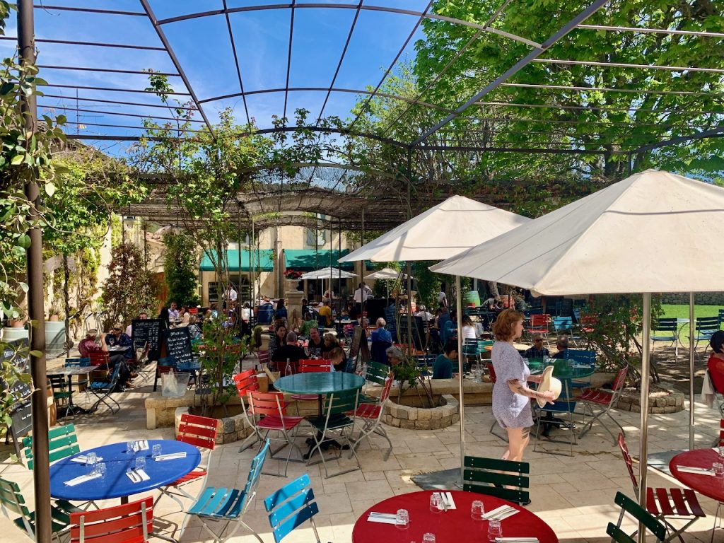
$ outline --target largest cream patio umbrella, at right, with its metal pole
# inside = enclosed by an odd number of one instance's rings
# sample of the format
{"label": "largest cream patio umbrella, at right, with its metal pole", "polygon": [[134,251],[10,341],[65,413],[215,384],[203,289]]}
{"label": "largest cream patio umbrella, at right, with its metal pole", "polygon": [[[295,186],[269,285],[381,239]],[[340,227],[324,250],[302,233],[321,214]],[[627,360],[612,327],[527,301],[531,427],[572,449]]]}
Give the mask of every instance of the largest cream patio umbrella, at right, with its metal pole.
{"label": "largest cream patio umbrella, at right, with its metal pole", "polygon": [[[646,488],[651,293],[691,292],[693,301],[693,292],[724,290],[724,255],[716,250],[723,231],[723,188],[649,169],[430,269],[543,295],[644,294],[640,484]],[[707,261],[697,265],[702,256]],[[693,305],[689,311],[693,329]],[[693,374],[693,345],[689,363]]]}

